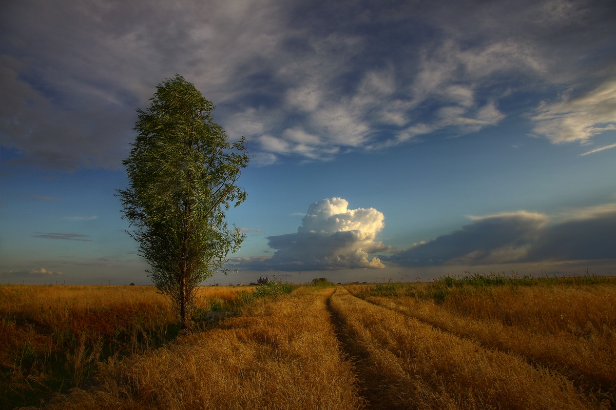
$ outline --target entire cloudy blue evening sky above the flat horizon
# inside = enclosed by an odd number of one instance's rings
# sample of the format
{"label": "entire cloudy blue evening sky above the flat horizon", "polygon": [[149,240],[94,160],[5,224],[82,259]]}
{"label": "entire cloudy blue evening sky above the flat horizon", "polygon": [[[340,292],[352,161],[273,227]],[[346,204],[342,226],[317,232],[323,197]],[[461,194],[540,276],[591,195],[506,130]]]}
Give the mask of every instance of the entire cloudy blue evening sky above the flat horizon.
{"label": "entire cloudy blue evening sky above the flat horizon", "polygon": [[174,74],[245,136],[205,284],[616,275],[616,3],[3,1],[0,283],[151,284],[116,189]]}

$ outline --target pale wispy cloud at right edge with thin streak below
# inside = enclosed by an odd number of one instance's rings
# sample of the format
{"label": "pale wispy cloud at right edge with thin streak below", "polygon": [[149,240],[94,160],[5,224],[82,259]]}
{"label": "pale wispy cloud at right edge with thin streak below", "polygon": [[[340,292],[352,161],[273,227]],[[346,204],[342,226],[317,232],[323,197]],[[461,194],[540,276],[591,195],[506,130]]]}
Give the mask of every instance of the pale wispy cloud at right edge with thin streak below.
{"label": "pale wispy cloud at right edge with thin streak below", "polygon": [[563,95],[561,101],[543,101],[536,112],[537,115],[532,117],[537,123],[533,132],[545,136],[553,144],[584,143],[595,135],[616,130],[616,79],[605,81],[577,97]]}

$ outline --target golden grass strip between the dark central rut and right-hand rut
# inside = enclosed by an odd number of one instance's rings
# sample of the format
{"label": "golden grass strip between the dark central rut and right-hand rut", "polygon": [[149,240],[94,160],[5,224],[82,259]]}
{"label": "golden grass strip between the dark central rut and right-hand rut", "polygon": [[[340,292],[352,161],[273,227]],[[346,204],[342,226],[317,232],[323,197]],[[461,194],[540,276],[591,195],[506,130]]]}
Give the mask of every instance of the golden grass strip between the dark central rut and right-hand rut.
{"label": "golden grass strip between the dark central rut and right-hand rut", "polygon": [[521,357],[486,350],[415,318],[355,298],[331,298],[372,400],[389,408],[580,409],[572,383]]}

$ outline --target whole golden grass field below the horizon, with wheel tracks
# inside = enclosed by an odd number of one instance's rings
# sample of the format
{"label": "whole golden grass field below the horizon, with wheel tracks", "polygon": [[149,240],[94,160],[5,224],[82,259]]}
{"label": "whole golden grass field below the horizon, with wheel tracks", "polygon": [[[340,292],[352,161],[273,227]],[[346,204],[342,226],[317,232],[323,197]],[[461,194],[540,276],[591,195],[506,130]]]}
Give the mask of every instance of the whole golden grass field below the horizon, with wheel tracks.
{"label": "whole golden grass field below the horizon, with wheel tracks", "polygon": [[0,286],[2,408],[609,409],[616,278]]}

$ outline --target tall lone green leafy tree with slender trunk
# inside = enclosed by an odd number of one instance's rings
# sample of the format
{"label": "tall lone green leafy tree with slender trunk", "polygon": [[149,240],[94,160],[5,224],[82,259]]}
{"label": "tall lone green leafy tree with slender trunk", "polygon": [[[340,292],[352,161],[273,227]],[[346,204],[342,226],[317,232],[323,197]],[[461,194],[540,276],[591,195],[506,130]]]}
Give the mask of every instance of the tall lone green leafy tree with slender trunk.
{"label": "tall lone green leafy tree with slender trunk", "polygon": [[137,138],[122,162],[129,186],[118,193],[152,282],[188,328],[197,286],[226,274],[227,254],[245,238],[229,229],[224,211],[246,199],[236,183],[249,157],[245,139],[229,144],[210,114],[214,105],[179,74],[158,84],[150,100],[147,110],[137,109]]}

